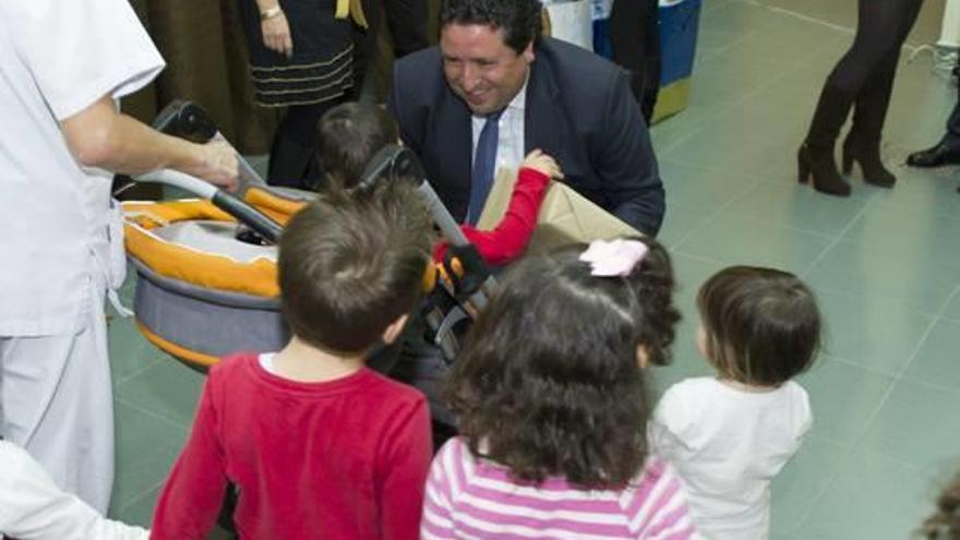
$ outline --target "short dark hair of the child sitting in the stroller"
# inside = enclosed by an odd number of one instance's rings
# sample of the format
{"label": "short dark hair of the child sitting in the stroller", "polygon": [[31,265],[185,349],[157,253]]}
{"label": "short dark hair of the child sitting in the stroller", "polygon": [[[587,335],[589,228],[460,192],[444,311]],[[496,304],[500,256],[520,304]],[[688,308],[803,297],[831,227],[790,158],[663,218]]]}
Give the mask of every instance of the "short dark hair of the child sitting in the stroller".
{"label": "short dark hair of the child sitting in the stroller", "polygon": [[332,189],[360,183],[370,159],[399,139],[397,123],[382,107],[347,103],[328,110],[317,124],[316,158]]}

